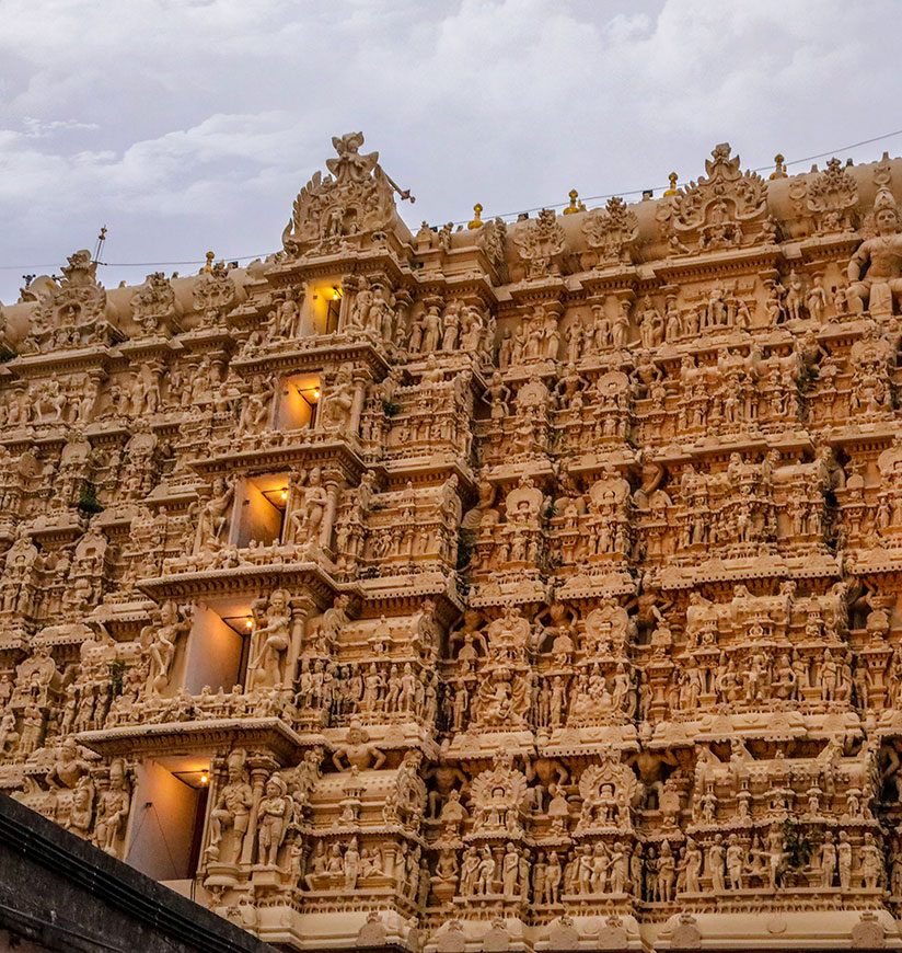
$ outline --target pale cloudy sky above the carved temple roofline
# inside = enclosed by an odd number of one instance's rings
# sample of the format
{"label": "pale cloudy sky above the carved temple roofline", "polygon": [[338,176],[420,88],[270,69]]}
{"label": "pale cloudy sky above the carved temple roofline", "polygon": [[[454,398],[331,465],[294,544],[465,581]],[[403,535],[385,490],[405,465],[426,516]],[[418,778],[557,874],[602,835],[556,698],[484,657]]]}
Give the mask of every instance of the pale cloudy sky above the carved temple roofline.
{"label": "pale cloudy sky above the carved temple roofline", "polygon": [[[274,251],[362,129],[414,228],[775,152],[902,153],[900,8],[870,0],[0,0],[0,300],[109,237],[102,280]],[[810,167],[810,161],[797,170]],[[591,204],[591,203],[590,203]],[[159,266],[171,272],[192,265]]]}

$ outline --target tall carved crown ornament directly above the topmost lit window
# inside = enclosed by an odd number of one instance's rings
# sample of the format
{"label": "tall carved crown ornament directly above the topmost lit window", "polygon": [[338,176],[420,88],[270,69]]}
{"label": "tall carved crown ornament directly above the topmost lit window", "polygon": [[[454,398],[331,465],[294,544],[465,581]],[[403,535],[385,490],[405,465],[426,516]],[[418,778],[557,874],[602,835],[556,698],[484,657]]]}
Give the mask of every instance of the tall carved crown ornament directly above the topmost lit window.
{"label": "tall carved crown ornament directly above the topmost lit window", "polygon": [[298,194],[291,219],[282,232],[289,254],[337,248],[344,239],[389,226],[395,204],[389,177],[379,165],[379,152],[361,153],[362,133],[334,136],[338,153],[326,160],[332,173],[315,172]]}

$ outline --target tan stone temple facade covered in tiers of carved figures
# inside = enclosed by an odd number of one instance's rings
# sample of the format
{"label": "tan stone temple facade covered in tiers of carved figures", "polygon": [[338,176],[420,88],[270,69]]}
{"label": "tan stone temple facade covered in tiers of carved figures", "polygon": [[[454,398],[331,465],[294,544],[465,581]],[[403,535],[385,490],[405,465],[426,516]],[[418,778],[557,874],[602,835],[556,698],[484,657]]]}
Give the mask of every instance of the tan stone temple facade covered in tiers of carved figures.
{"label": "tan stone temple facade covered in tiers of carved figures", "polygon": [[285,950],[902,949],[902,160],[412,234],[362,141],[3,309],[0,786]]}

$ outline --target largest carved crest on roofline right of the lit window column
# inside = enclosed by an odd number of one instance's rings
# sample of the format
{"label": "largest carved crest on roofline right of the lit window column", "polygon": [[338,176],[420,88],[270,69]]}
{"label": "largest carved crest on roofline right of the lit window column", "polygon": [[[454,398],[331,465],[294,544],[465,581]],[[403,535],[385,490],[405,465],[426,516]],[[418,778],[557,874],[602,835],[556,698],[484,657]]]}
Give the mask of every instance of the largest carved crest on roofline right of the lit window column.
{"label": "largest carved crest on roofline right of the lit window column", "polygon": [[698,253],[740,248],[761,233],[767,215],[767,183],[739,168],[729,142],[705,160],[707,175],[662,199],[657,218],[675,252]]}

